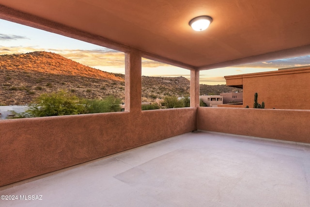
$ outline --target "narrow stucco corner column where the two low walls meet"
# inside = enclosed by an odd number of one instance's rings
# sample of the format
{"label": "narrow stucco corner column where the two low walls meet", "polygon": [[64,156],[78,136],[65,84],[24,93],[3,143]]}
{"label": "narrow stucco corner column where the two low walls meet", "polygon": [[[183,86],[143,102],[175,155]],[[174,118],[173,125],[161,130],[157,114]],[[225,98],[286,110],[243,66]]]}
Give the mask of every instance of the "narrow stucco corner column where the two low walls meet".
{"label": "narrow stucco corner column where the two low walls meet", "polygon": [[199,107],[199,70],[190,71],[190,107]]}

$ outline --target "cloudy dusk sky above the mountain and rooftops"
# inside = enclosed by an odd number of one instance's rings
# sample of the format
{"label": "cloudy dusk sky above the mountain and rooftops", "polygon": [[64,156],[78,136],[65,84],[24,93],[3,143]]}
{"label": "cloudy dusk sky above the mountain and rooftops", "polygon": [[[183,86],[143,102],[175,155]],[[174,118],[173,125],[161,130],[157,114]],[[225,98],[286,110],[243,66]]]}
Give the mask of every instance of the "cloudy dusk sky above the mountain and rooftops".
{"label": "cloudy dusk sky above the mountain and rooftops", "polygon": [[[112,73],[124,74],[124,53],[82,42],[62,35],[46,32],[0,19],[0,55],[33,51],[54,52],[81,64]],[[310,54],[310,53],[309,53]],[[224,76],[278,70],[310,64],[310,55],[233,67],[203,70],[200,83],[226,84]],[[142,59],[142,75],[189,79],[190,71]]]}

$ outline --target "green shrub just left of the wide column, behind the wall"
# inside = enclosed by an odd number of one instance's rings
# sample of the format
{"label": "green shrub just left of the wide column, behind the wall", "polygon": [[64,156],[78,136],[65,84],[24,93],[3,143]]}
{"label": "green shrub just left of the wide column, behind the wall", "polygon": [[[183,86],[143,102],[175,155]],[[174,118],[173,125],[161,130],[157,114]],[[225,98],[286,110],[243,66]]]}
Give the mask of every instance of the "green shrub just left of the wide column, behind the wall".
{"label": "green shrub just left of the wide column, behind the wall", "polygon": [[87,113],[103,113],[103,112],[117,112],[121,111],[121,99],[114,96],[108,96],[103,100],[87,100]]}

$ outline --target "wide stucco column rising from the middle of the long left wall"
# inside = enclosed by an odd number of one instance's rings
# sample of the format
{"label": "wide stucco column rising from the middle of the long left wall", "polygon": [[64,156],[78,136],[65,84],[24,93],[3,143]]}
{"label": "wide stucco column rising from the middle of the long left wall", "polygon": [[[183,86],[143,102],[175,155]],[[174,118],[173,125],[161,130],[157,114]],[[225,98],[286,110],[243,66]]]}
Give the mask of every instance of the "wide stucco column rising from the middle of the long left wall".
{"label": "wide stucco column rising from the middle of the long left wall", "polygon": [[125,53],[125,111],[141,111],[141,53]]}

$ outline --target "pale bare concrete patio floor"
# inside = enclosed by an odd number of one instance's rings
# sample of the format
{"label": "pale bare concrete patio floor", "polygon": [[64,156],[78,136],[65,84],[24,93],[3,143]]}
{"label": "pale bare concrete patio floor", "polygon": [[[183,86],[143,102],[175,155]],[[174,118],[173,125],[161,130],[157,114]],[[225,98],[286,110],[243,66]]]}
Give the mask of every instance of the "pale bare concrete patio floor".
{"label": "pale bare concrete patio floor", "polygon": [[[309,207],[310,145],[190,132],[4,186],[0,195],[18,197],[1,207]],[[42,200],[20,200],[28,195]]]}

